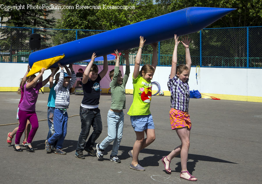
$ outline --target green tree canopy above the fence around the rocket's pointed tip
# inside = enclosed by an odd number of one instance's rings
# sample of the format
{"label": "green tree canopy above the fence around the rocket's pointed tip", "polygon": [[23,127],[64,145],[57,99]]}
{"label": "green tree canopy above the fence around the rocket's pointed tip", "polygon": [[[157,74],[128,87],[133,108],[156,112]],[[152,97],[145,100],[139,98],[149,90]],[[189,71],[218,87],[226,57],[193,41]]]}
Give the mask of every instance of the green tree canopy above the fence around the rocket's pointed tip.
{"label": "green tree canopy above the fence around the rocket's pointed tip", "polygon": [[[237,10],[217,20],[207,28],[243,27],[262,25],[261,0],[157,0],[158,6],[164,7],[163,13],[170,13],[191,6],[237,8]],[[161,8],[158,8],[161,9]],[[168,10],[168,11],[166,11]]]}

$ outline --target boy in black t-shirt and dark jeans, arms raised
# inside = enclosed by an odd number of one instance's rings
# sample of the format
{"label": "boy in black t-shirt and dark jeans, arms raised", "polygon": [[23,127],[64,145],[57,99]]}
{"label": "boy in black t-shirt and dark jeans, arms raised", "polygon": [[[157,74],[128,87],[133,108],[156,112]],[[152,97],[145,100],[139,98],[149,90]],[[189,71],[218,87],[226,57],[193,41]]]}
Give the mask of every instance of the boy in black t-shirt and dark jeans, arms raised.
{"label": "boy in black t-shirt and dark jeans, arms raised", "polygon": [[[98,109],[100,99],[100,80],[106,75],[108,70],[107,56],[104,56],[103,70],[98,74],[98,67],[93,64],[95,61],[95,53],[93,53],[90,63],[88,63],[82,79],[82,87],[84,98],[80,106],[81,133],[77,142],[75,157],[84,159],[83,150],[89,154],[96,156],[96,150],[93,149],[95,140],[102,132],[102,119],[100,109]],[[88,141],[85,141],[89,135],[90,128],[93,127],[93,132]]]}

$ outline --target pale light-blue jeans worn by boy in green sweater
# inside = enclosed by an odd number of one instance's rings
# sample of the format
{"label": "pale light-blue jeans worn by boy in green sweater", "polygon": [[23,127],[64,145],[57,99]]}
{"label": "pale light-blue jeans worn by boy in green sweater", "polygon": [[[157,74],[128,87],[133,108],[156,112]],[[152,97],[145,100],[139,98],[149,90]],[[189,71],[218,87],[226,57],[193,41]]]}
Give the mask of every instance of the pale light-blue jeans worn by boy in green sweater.
{"label": "pale light-blue jeans worn by boy in green sweater", "polygon": [[99,148],[105,150],[107,146],[114,141],[111,155],[117,155],[119,145],[123,135],[124,113],[113,112],[111,110],[107,113],[107,134],[108,136],[99,144]]}

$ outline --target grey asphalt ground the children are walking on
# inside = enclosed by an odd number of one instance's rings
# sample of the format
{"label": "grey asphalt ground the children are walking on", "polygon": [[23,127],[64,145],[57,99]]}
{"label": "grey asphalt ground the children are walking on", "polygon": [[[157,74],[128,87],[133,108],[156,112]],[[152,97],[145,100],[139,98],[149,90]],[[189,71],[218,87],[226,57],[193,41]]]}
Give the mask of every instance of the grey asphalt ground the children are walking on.
{"label": "grey asphalt ground the children are walking on", "polygon": [[[79,115],[80,95],[70,96],[68,116]],[[48,93],[39,94],[36,104],[38,120],[47,118]],[[153,96],[151,114],[155,123],[155,141],[139,154],[146,171],[130,169],[128,151],[136,139],[127,111],[133,96],[126,95],[123,138],[118,152],[121,163],[109,160],[112,146],[105,150],[104,160],[99,161],[84,151],[85,159],[75,158],[77,140],[81,131],[79,116],[68,119],[67,135],[63,150],[66,155],[47,153],[47,121],[39,121],[33,139],[35,152],[22,147],[16,152],[13,143],[6,143],[8,132],[18,125],[0,126],[0,183],[190,183],[179,177],[180,157],[171,161],[172,174],[164,171],[162,157],[180,144],[169,121],[170,97]],[[16,112],[20,95],[1,92],[1,123],[17,123]],[[101,95],[103,131],[96,143],[107,136],[107,112],[110,95]],[[262,103],[232,100],[190,99],[189,114],[192,121],[187,169],[198,178],[196,183],[261,183],[261,132]],[[22,137],[23,138],[23,137]],[[22,139],[21,139],[22,140]],[[21,144],[20,144],[21,145]]]}

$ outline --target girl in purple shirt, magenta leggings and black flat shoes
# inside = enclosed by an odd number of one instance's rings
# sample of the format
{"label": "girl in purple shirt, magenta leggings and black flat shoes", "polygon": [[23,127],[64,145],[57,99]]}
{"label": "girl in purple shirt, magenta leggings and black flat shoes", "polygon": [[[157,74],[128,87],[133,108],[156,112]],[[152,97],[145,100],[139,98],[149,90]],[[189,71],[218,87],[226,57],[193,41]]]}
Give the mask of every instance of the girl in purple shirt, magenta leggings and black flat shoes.
{"label": "girl in purple shirt, magenta leggings and black flat shoes", "polygon": [[20,103],[19,112],[18,112],[19,128],[15,136],[15,144],[14,144],[15,151],[23,151],[20,148],[19,143],[20,143],[20,138],[22,137],[22,134],[25,130],[27,120],[30,121],[32,129],[29,132],[27,142],[24,144],[24,146],[27,149],[29,149],[29,151],[34,151],[34,149],[31,146],[31,142],[38,129],[38,119],[35,111],[36,100],[40,88],[45,86],[45,84],[47,84],[50,76],[47,77],[47,79],[45,79],[43,82],[37,83],[37,81],[42,77],[45,70],[46,70],[45,68],[42,68],[38,76],[36,75],[30,76],[29,83],[24,85],[24,98]]}

